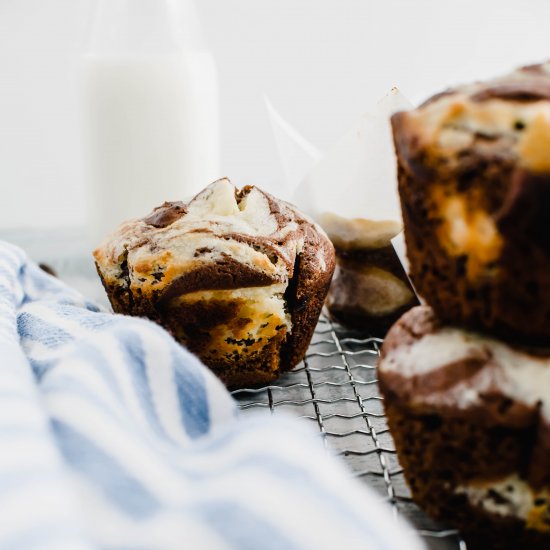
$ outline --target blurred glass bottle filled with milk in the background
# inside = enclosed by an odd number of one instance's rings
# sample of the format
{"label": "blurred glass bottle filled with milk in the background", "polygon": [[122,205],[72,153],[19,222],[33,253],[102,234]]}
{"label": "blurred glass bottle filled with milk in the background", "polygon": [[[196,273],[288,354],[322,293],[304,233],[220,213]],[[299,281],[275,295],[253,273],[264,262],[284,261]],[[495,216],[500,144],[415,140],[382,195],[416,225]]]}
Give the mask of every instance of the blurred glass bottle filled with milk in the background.
{"label": "blurred glass bottle filled with milk in the background", "polygon": [[220,176],[214,60],[192,0],[99,0],[82,58],[93,244]]}

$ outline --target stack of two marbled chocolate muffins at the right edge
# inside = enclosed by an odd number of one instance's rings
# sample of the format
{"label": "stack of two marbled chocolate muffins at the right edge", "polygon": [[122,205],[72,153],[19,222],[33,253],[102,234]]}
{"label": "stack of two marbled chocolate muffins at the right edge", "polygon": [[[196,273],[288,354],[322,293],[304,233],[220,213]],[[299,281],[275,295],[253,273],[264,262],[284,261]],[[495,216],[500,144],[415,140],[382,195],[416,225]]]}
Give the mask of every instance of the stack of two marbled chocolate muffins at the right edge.
{"label": "stack of two marbled chocolate muffins at the right edge", "polygon": [[548,548],[550,63],[392,125],[410,275],[429,304],[394,325],[379,362],[407,481],[474,548]]}

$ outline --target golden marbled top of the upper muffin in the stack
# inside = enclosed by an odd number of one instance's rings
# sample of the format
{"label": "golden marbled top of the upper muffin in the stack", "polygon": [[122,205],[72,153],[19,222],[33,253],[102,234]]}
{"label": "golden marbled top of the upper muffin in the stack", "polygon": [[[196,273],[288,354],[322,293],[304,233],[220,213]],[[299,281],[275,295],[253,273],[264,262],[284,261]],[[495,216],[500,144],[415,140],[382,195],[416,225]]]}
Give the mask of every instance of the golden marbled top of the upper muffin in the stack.
{"label": "golden marbled top of the upper muffin in the stack", "polygon": [[[449,158],[473,146],[514,157],[533,172],[550,171],[550,62],[436,94],[393,116],[406,158],[421,149]],[[407,154],[408,151],[408,154]]]}

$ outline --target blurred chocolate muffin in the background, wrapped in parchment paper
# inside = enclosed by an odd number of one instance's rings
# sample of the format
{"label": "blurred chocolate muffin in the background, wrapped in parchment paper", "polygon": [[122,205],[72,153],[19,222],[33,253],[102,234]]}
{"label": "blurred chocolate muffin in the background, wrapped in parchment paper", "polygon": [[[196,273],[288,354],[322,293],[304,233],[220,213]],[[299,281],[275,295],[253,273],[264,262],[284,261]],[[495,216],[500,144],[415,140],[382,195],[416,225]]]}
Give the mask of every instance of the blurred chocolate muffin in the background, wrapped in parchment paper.
{"label": "blurred chocolate muffin in the background, wrapped in parchment paper", "polygon": [[330,316],[349,328],[383,336],[405,311],[418,305],[391,244],[401,222],[324,214],[320,223],[336,249],[327,297]]}

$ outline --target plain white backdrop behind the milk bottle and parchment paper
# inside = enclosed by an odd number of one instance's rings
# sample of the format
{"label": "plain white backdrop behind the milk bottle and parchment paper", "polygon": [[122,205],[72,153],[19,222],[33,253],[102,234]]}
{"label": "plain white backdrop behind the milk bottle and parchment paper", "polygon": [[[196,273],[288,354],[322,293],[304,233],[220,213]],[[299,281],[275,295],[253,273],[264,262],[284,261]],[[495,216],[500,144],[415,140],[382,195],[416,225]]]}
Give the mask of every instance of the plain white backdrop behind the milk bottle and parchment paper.
{"label": "plain white backdrop behind the milk bottle and parchment paper", "polygon": [[[223,173],[276,180],[263,104],[321,150],[398,85],[414,102],[550,57],[547,0],[196,0]],[[0,0],[0,228],[84,222],[78,62],[93,0]],[[205,182],[206,183],[206,182]]]}

